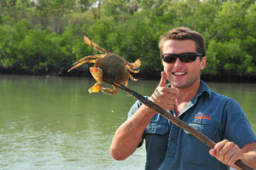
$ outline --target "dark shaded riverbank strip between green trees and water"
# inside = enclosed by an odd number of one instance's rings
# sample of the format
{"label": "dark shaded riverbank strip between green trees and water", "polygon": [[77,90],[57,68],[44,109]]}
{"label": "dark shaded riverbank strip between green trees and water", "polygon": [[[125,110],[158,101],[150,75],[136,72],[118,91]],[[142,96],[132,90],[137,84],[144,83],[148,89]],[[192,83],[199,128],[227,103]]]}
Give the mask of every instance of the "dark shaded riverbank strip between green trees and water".
{"label": "dark shaded riverbank strip between green trees and water", "polygon": [[[58,76],[58,77],[90,77],[89,66],[75,69],[67,72],[68,68],[50,68],[43,67],[35,70],[22,69],[17,67],[0,66],[0,74],[6,75],[32,75],[32,76]],[[153,69],[150,67],[142,69],[138,74],[132,76],[143,80],[160,79],[161,69]],[[240,82],[240,83],[256,83],[256,75],[211,75],[201,74],[201,79],[205,82]]]}

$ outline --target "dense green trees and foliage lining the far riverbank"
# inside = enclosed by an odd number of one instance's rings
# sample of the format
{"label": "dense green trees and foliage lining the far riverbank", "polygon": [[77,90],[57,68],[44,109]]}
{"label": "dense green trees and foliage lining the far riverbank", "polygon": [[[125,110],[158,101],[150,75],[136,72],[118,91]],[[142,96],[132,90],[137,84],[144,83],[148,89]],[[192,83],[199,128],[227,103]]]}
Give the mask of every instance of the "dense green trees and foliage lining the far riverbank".
{"label": "dense green trees and foliage lining the far riverbank", "polygon": [[99,54],[84,35],[142,68],[161,67],[160,36],[188,26],[206,38],[209,74],[256,74],[253,0],[57,0],[0,3],[0,65],[67,69]]}

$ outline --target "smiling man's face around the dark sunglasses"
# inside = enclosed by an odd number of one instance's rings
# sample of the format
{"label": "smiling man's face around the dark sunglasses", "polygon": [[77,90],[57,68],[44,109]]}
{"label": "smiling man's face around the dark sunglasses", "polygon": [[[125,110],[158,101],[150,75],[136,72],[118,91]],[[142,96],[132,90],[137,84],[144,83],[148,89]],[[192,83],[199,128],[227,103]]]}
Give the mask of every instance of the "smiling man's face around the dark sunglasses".
{"label": "smiling man's face around the dark sunglasses", "polygon": [[[163,54],[181,54],[195,52],[195,42],[192,40],[168,40],[164,42]],[[166,63],[163,61],[164,71],[175,88],[189,88],[193,85],[200,84],[201,70],[204,69],[207,59],[199,57],[195,61],[183,63],[180,59],[176,59],[174,63]]]}

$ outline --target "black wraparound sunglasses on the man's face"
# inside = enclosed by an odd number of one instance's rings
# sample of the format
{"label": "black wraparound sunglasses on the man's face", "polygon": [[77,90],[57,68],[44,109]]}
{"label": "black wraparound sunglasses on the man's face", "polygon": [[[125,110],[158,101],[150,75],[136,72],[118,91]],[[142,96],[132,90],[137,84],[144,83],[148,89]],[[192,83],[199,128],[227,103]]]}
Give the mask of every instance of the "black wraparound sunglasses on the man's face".
{"label": "black wraparound sunglasses on the man's face", "polygon": [[200,53],[182,53],[182,54],[162,54],[162,59],[166,63],[174,63],[178,58],[183,63],[195,61],[196,57],[202,57]]}

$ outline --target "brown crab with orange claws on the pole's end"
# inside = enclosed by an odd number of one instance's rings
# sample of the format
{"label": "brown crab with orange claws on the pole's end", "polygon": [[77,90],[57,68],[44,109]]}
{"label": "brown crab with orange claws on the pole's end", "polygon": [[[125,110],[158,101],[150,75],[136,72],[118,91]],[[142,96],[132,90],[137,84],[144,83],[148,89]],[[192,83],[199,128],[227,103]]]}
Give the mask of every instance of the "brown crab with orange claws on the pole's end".
{"label": "brown crab with orange claws on the pole's end", "polygon": [[131,76],[131,73],[138,73],[137,70],[141,66],[141,60],[137,59],[134,63],[125,61],[119,54],[108,53],[104,48],[101,48],[96,42],[91,42],[90,39],[84,36],[84,42],[92,48],[95,48],[102,54],[86,56],[79,59],[73,64],[73,67],[68,70],[72,71],[74,68],[84,65],[85,63],[94,63],[93,67],[90,67],[90,73],[96,80],[96,83],[88,91],[91,93],[98,93],[100,90],[104,94],[116,94],[119,91],[118,86],[113,86],[113,89],[103,88],[102,83],[104,80],[111,80],[112,82],[125,83],[125,87],[128,86],[128,80],[137,81],[136,78]]}

